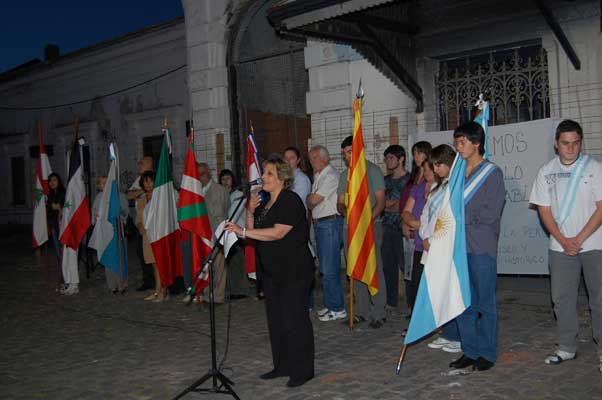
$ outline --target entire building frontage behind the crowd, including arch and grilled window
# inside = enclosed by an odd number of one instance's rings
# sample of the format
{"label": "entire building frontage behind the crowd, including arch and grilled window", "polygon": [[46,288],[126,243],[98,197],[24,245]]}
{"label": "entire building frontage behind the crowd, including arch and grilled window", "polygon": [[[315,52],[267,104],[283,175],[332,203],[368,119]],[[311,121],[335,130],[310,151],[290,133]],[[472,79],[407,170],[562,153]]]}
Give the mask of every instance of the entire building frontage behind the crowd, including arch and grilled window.
{"label": "entire building frontage behind the crowd, including arch and grilled window", "polygon": [[215,171],[243,173],[251,127],[263,156],[322,144],[340,167],[360,79],[366,154],[379,165],[389,144],[469,119],[479,93],[492,124],[574,118],[585,151],[602,156],[599,1],[182,4],[183,19],[0,75],[0,223],[31,219],[38,120],[62,175],[76,116],[92,179],[115,140],[127,182],[136,159],[156,152],[164,116],[176,179],[188,120],[197,157]]}

